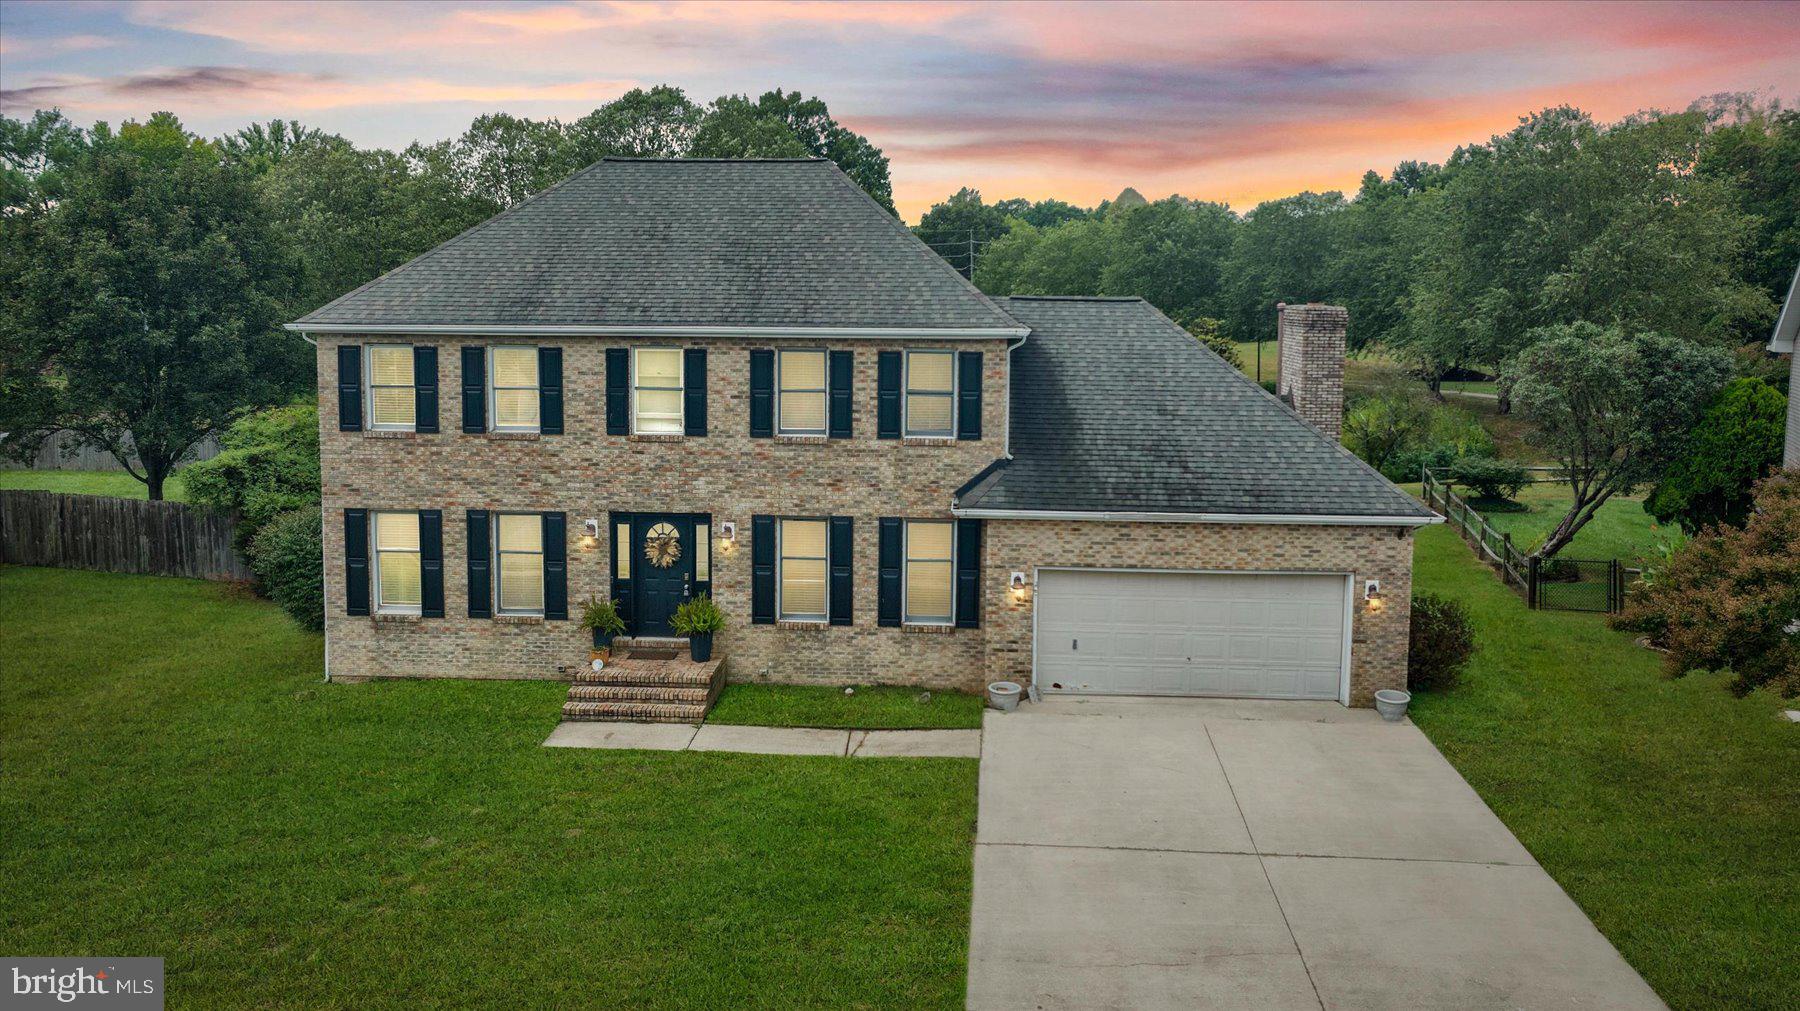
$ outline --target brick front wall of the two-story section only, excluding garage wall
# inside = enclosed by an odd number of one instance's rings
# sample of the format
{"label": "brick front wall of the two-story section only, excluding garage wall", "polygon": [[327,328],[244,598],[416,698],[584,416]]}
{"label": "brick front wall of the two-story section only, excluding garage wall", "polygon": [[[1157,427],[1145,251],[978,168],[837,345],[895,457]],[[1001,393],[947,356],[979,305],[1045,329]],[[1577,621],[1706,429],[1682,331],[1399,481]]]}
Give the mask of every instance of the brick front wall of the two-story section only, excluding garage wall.
{"label": "brick front wall of the two-story section only, excluding garage wall", "polygon": [[[337,428],[340,344],[436,344],[441,434]],[[610,511],[709,513],[713,531],[734,522],[736,545],[715,538],[713,597],[731,624],[715,640],[734,680],[810,684],[900,682],[972,689],[983,682],[983,631],[896,630],[875,624],[880,516],[950,518],[952,493],[1003,453],[1004,340],[889,344],[875,340],[707,340],[707,435],[639,441],[607,435],[607,347],[697,347],[677,340],[545,340],[563,349],[563,435],[461,432],[459,347],[466,338],[319,340],[320,468],[326,538],[326,635],[331,675],[562,676],[585,658],[576,626],[589,594],[610,592],[612,538],[580,545],[581,522]],[[500,342],[495,342],[500,344]],[[855,351],[851,439],[751,439],[749,351]],[[983,351],[979,441],[929,444],[875,437],[877,353],[943,347]],[[344,613],[344,509],[445,511],[445,617]],[[464,509],[569,514],[571,621],[470,619]],[[853,516],[851,626],[751,624],[751,516]]]}

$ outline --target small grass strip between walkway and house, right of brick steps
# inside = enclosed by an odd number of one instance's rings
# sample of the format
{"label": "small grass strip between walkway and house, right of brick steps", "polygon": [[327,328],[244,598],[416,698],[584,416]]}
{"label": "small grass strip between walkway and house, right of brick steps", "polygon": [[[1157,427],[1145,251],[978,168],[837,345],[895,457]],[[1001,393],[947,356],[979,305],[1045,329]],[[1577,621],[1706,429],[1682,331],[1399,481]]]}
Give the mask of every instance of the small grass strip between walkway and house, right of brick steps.
{"label": "small grass strip between walkway and house, right of brick steps", "polygon": [[916,687],[731,685],[707,723],[918,730],[981,727],[981,696]]}

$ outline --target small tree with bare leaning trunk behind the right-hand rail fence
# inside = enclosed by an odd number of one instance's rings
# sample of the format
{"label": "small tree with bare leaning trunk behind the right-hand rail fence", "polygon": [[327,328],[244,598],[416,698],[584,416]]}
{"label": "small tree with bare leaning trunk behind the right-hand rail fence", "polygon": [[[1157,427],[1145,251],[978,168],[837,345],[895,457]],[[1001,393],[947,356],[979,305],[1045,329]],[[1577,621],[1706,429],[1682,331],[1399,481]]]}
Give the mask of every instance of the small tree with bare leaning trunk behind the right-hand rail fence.
{"label": "small tree with bare leaning trunk behind the right-hand rail fence", "polygon": [[1534,331],[1503,381],[1573,491],[1535,554],[1555,556],[1613,495],[1656,480],[1730,374],[1730,353],[1656,333],[1591,322]]}

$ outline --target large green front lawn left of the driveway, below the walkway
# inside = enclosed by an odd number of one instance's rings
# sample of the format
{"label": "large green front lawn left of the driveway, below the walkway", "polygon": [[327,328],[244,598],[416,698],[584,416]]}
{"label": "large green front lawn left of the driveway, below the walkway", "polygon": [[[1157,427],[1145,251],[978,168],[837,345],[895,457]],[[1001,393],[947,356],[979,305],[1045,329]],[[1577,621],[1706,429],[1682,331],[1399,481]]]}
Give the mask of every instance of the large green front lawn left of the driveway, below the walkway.
{"label": "large green front lawn left of the driveway, below the walkway", "polygon": [[182,579],[0,568],[0,950],[189,1006],[961,1006],[976,763],[544,748]]}

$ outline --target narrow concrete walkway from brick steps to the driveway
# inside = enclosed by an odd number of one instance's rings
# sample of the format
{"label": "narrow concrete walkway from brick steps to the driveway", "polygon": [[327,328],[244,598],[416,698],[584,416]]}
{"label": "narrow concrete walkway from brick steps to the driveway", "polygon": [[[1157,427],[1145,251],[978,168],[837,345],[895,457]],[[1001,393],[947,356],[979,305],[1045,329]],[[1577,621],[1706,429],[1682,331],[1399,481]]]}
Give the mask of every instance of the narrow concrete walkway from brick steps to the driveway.
{"label": "narrow concrete walkway from brick steps to the driveway", "polygon": [[815,730],[720,723],[560,723],[547,748],[745,752],[758,756],[981,757],[981,730]]}

